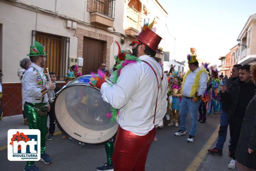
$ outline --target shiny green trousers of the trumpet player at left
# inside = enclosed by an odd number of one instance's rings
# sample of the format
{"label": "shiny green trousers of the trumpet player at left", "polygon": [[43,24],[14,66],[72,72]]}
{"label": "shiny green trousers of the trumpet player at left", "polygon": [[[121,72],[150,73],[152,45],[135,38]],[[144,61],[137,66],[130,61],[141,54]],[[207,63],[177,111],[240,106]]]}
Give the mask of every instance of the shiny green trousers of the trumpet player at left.
{"label": "shiny green trousers of the trumpet player at left", "polygon": [[[37,105],[44,105],[45,103],[37,103]],[[47,134],[47,115],[40,116],[37,111],[28,104],[24,104],[24,112],[29,122],[29,129],[38,129],[41,131],[41,154],[44,154],[45,147],[45,136]],[[31,166],[35,161],[27,161],[27,165]]]}

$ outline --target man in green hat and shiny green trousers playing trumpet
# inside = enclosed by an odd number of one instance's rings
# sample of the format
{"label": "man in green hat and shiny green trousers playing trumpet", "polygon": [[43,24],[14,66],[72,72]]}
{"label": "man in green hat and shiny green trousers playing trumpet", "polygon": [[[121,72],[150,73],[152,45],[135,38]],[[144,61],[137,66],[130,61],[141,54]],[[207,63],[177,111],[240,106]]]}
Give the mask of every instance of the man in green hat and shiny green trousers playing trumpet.
{"label": "man in green hat and shiny green trousers playing trumpet", "polygon": [[[32,64],[23,75],[24,112],[29,122],[29,129],[39,129],[41,132],[41,161],[52,163],[45,153],[45,136],[47,134],[47,112],[50,110],[47,91],[55,89],[55,83],[46,82],[44,65],[46,61],[44,46],[34,42],[28,54]],[[34,161],[27,161],[24,171],[40,171]]]}

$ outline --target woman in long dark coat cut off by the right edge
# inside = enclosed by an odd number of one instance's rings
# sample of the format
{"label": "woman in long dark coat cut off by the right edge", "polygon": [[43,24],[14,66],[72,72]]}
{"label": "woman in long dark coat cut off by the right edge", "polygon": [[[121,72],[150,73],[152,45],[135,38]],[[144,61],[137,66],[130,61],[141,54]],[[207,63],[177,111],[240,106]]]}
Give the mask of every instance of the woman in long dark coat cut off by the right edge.
{"label": "woman in long dark coat cut off by the right edge", "polygon": [[[256,63],[251,65],[250,71],[256,84]],[[256,171],[256,94],[245,111],[236,148],[236,168],[238,171]]]}

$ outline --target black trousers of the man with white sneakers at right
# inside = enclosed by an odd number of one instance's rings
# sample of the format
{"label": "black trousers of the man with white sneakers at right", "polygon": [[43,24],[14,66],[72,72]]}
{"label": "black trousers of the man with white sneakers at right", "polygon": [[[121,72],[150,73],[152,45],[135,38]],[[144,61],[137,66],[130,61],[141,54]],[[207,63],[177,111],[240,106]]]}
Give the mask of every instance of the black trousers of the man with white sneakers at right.
{"label": "black trousers of the man with white sneakers at right", "polygon": [[243,117],[242,116],[233,116],[230,119],[230,138],[232,141],[230,142],[230,157],[235,159],[236,147],[239,140],[239,135],[241,131]]}

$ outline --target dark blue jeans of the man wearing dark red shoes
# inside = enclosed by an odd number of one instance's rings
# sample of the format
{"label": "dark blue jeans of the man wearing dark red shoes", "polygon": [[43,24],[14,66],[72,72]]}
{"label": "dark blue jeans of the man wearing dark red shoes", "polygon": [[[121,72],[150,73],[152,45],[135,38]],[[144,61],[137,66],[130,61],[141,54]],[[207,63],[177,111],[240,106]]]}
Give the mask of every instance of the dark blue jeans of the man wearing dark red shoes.
{"label": "dark blue jeans of the man wearing dark red shoes", "polygon": [[223,149],[223,145],[227,138],[227,127],[229,125],[228,121],[228,113],[226,113],[224,110],[221,111],[221,125],[218,132],[218,140],[216,143],[216,148],[219,150]]}

